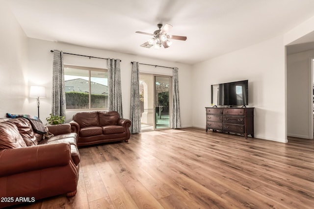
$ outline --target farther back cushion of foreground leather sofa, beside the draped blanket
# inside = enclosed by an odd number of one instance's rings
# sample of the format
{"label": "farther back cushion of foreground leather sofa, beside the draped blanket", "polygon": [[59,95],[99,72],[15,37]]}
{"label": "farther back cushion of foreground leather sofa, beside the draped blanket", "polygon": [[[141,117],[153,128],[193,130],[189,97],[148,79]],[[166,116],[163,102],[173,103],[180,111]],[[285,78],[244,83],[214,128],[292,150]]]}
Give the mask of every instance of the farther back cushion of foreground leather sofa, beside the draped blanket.
{"label": "farther back cushion of foreground leather sofa, beside the draped blanket", "polygon": [[30,122],[26,118],[18,117],[10,119],[8,122],[16,125],[27,146],[37,145],[37,139],[35,138],[34,131]]}

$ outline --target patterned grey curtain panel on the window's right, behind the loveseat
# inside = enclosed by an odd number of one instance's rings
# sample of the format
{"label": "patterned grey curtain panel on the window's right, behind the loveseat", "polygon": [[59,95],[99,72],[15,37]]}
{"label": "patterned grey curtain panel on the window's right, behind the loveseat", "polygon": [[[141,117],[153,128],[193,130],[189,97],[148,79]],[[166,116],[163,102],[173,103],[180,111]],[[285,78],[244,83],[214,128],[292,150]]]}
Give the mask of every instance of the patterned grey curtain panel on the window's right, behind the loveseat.
{"label": "patterned grey curtain panel on the window's right, behind the loveseat", "polygon": [[109,111],[117,111],[123,118],[120,59],[107,59]]}

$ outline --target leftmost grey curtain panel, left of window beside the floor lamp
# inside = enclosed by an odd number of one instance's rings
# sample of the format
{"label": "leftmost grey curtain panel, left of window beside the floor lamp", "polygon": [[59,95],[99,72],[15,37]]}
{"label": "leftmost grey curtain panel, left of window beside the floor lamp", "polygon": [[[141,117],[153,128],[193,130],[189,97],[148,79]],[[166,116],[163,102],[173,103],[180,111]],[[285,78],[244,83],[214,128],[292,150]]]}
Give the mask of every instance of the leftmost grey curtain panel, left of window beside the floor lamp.
{"label": "leftmost grey curtain panel, left of window beside the floor lamp", "polygon": [[52,67],[52,108],[53,116],[65,116],[65,89],[63,52],[53,50]]}

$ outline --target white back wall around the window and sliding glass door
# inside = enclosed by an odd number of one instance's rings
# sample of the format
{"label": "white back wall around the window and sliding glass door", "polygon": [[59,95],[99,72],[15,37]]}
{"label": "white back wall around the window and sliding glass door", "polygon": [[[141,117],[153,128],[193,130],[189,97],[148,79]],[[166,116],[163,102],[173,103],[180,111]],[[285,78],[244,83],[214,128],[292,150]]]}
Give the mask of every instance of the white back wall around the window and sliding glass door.
{"label": "white back wall around the window and sliding glass door", "polygon": [[[131,54],[124,54],[112,51],[106,51],[95,48],[88,48],[83,46],[74,46],[64,43],[55,43],[49,41],[43,41],[38,39],[28,39],[29,51],[28,51],[28,75],[32,84],[44,85],[47,91],[47,98],[41,99],[41,119],[45,118],[51,112],[51,80],[52,80],[52,59],[53,54],[50,50],[58,49],[63,52],[88,55],[94,57],[103,58],[115,58],[121,59],[121,83],[122,83],[122,102],[123,102],[123,116],[130,118],[130,102],[131,102],[131,61],[137,61],[145,64],[160,65],[166,67],[178,67],[179,68],[179,91],[180,91],[180,105],[181,105],[181,119],[183,127],[192,126],[192,66],[162,61],[156,59],[150,59],[146,57],[135,56]],[[106,60],[87,58],[75,55],[64,54],[64,63],[69,65],[87,66],[95,68],[106,68]],[[140,65],[141,72],[152,72],[156,74],[172,75],[172,69],[155,68],[152,66]],[[29,104],[33,105],[33,104]],[[36,107],[36,105],[33,105]],[[29,114],[37,115],[36,109],[30,111]],[[66,121],[70,121],[75,112],[68,111],[66,114]]]}

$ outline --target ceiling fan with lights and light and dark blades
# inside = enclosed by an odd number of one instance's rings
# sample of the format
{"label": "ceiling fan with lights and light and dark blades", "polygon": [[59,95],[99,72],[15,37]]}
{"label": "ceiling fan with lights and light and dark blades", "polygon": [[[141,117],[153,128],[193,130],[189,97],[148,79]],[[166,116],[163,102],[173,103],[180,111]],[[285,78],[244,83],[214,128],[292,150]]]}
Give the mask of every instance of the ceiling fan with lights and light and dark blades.
{"label": "ceiling fan with lights and light and dark blades", "polygon": [[161,46],[168,48],[172,45],[172,42],[169,39],[175,39],[180,41],[185,41],[186,36],[174,36],[174,35],[167,35],[167,32],[172,28],[171,24],[165,24],[162,26],[162,24],[157,24],[158,30],[155,30],[154,34],[152,33],[145,33],[141,31],[136,31],[135,33],[141,33],[144,35],[150,35],[153,36],[151,39],[149,39],[147,42],[142,44],[142,47],[150,48],[152,46],[155,46],[156,48],[160,48]]}

